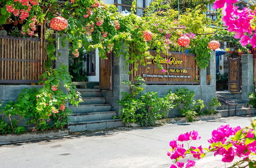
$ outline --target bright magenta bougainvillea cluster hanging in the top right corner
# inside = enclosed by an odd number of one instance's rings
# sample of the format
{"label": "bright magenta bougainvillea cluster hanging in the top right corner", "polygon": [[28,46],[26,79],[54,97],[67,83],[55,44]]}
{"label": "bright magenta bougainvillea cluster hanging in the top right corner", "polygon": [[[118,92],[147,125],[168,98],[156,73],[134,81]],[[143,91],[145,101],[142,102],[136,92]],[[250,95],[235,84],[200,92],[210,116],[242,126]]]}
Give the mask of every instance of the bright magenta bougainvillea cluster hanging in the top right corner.
{"label": "bright magenta bougainvillea cluster hanging in the top right corner", "polygon": [[222,20],[225,22],[229,32],[236,33],[234,38],[240,39],[240,43],[243,46],[250,43],[254,48],[256,47],[256,34],[251,22],[256,15],[256,10],[246,7],[243,10],[238,10],[238,7],[233,6],[236,2],[238,0],[217,0],[214,8],[222,8]]}

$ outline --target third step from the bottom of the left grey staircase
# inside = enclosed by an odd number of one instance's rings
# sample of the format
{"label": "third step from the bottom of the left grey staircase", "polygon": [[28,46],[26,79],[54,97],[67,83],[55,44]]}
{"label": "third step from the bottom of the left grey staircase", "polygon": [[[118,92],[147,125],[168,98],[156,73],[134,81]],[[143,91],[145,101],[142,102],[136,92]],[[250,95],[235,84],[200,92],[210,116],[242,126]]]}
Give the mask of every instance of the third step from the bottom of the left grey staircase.
{"label": "third step from the bottom of the left grey staircase", "polygon": [[84,105],[70,105],[69,108],[73,113],[87,113],[96,111],[110,111],[111,104],[84,104]]}

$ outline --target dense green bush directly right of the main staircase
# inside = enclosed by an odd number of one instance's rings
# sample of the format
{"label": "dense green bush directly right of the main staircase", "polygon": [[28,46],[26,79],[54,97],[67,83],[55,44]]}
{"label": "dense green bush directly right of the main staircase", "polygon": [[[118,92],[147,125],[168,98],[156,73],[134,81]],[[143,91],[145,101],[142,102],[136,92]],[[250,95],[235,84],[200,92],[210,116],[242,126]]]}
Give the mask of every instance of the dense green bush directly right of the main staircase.
{"label": "dense green bush directly right of the main staircase", "polygon": [[[135,80],[143,81],[143,78],[136,77]],[[124,96],[119,101],[122,106],[119,119],[124,123],[139,123],[142,126],[154,125],[154,121],[161,119],[164,111],[173,108],[168,101],[172,100],[171,95],[166,98],[159,98],[157,92],[141,93],[144,88],[133,81],[123,81],[132,89],[132,94],[122,93]],[[161,112],[163,111],[163,112]]]}

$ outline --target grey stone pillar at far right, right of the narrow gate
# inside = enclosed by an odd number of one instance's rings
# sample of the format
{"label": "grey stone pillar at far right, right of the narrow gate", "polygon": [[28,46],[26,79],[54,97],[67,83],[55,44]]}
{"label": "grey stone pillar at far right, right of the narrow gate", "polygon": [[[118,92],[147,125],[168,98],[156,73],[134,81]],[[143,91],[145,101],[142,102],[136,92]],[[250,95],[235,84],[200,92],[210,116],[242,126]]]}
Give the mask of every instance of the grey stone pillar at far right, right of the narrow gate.
{"label": "grey stone pillar at far right, right of the narrow gate", "polygon": [[242,55],[242,100],[248,101],[248,94],[254,91],[252,54]]}

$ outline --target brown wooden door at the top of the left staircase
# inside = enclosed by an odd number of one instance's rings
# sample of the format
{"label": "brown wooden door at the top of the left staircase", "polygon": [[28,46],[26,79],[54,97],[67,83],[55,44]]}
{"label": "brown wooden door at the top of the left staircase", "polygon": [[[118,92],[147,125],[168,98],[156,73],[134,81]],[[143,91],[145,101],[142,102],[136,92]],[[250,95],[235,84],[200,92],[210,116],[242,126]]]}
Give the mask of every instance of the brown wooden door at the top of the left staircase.
{"label": "brown wooden door at the top of the left staircase", "polygon": [[100,59],[100,89],[112,90],[112,75],[113,75],[113,53],[106,53],[106,59]]}

